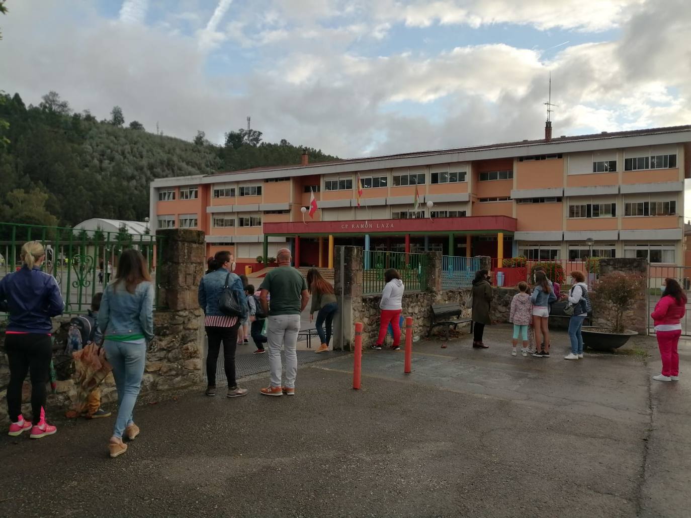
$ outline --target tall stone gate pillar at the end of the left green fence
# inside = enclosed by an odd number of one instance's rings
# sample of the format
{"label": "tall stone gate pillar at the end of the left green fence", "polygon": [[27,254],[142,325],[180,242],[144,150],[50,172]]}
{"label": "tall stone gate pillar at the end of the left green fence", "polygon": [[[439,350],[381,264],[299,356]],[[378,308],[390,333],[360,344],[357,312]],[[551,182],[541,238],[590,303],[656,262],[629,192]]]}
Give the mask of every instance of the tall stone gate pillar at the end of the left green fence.
{"label": "tall stone gate pillar at the end of the left green fence", "polygon": [[198,383],[204,357],[203,312],[197,293],[204,275],[204,233],[161,229],[160,268],[156,272],[158,307],[155,340],[146,354],[142,390],[169,390]]}

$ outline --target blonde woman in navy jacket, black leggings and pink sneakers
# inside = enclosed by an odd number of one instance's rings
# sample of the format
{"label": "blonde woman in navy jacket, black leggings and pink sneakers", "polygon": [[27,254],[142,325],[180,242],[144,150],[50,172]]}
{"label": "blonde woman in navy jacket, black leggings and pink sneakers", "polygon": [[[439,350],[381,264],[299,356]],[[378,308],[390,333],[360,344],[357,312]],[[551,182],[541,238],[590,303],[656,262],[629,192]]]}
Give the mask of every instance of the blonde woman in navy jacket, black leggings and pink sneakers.
{"label": "blonde woman in navy jacket, black leggings and pink sneakers", "polygon": [[[9,434],[17,436],[31,430],[32,439],[57,432],[46,423],[46,383],[53,358],[50,317],[64,309],[60,288],[55,278],[41,271],[46,251],[38,241],[21,247],[22,267],[0,280],[0,308],[10,313],[5,335],[5,348],[10,363],[7,407],[10,415]],[[21,415],[21,385],[26,373],[31,379],[32,425]]]}

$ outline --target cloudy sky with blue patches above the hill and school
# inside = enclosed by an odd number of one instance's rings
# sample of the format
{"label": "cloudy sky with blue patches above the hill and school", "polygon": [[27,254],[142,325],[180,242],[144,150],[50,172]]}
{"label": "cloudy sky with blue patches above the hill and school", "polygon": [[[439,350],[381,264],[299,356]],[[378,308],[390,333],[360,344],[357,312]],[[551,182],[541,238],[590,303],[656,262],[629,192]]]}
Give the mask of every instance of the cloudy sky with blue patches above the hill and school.
{"label": "cloudy sky with blue patches above the hill and school", "polygon": [[8,0],[0,89],[341,157],[689,124],[688,0]]}

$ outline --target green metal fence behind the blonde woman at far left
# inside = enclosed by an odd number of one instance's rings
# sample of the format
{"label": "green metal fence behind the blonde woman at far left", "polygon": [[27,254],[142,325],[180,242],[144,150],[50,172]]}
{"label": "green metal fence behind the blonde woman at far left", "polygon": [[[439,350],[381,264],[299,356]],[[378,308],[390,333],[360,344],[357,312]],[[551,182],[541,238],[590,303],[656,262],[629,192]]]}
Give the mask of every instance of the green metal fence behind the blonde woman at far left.
{"label": "green metal fence behind the blonde woman at far left", "polygon": [[[27,241],[40,241],[46,249],[41,269],[55,277],[65,301],[65,313],[84,313],[91,298],[113,279],[117,260],[124,249],[138,249],[146,258],[155,283],[162,244],[160,236],[81,230],[64,227],[0,222],[0,278],[21,267],[21,247]],[[158,304],[158,289],[155,303]],[[6,314],[0,313],[0,319]]]}

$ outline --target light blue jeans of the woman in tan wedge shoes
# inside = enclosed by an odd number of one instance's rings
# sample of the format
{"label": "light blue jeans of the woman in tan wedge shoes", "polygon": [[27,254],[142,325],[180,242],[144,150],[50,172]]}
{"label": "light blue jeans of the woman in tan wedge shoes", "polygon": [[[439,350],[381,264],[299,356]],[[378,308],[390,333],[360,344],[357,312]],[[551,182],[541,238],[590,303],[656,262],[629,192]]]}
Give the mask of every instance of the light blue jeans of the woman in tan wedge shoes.
{"label": "light blue jeans of the woman in tan wedge shoes", "polygon": [[135,342],[115,342],[106,339],[103,347],[106,349],[108,363],[113,365],[113,378],[117,387],[117,419],[113,436],[122,439],[125,428],[134,423],[132,412],[144,376],[146,341],[144,338]]}

